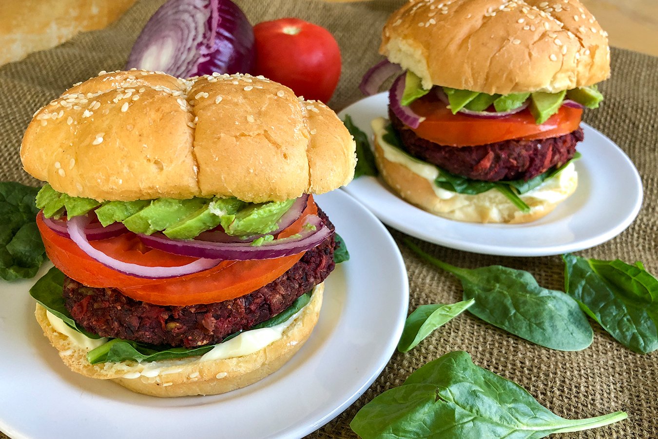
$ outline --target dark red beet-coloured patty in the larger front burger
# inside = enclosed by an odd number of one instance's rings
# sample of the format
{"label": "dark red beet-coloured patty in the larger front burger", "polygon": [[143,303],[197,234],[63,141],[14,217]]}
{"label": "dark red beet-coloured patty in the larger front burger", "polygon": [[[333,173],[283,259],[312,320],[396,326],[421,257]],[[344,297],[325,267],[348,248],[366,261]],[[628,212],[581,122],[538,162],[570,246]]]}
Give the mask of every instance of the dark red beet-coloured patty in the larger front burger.
{"label": "dark red beet-coloured patty in the larger front burger", "polygon": [[[334,230],[320,209],[318,216]],[[274,317],[320,284],[334,269],[335,249],[332,235],[269,284],[207,305],[153,305],[126,297],[116,288],[90,288],[68,277],[64,278],[64,301],[78,324],[103,337],[186,348],[215,344]]]}

